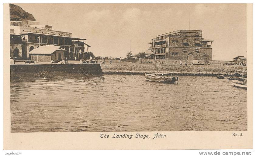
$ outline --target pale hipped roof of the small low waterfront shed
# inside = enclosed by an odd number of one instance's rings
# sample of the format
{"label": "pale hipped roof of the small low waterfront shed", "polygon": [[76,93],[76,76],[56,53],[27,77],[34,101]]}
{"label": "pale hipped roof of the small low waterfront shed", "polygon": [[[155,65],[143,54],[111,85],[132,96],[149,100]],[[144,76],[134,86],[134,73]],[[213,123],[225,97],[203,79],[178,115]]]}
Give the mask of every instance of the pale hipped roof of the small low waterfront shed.
{"label": "pale hipped roof of the small low waterfront shed", "polygon": [[54,45],[46,45],[40,46],[36,49],[33,49],[29,52],[29,54],[52,54],[56,50],[66,51],[65,49],[60,48],[61,46],[54,46]]}

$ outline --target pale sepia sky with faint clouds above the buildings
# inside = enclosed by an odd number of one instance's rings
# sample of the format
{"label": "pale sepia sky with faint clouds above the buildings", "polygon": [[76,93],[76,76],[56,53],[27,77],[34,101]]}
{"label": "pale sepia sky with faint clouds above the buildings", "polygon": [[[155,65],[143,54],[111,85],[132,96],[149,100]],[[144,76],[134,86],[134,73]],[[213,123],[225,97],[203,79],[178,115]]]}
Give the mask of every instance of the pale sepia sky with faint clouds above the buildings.
{"label": "pale sepia sky with faint clouds above the buildings", "polygon": [[212,60],[247,57],[246,4],[15,4],[40,24],[85,38],[95,56],[126,57],[130,41],[135,55],[157,35],[190,29],[214,40]]}

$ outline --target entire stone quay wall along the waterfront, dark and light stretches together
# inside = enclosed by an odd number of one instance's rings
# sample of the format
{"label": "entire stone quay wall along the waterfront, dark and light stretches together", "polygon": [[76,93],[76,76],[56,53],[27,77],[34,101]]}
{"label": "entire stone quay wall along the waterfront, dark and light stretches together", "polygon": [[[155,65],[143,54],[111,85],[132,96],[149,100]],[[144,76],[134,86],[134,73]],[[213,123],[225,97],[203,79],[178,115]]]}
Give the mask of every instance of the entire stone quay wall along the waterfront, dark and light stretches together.
{"label": "entire stone quay wall along the waterfront, dark and light stretches together", "polygon": [[[155,73],[154,64],[11,64],[11,73],[21,72],[79,72],[92,74],[122,74],[122,75],[144,75],[144,73]],[[234,76],[236,70],[247,70],[247,66],[234,65],[177,65],[158,64],[159,73],[174,73],[180,76]]]}

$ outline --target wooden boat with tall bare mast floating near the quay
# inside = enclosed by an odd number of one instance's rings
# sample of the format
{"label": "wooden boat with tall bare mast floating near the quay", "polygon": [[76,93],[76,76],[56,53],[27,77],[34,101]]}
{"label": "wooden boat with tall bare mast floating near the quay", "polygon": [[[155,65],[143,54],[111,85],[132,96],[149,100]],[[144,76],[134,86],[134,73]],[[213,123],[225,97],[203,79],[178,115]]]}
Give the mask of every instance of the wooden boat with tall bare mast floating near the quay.
{"label": "wooden boat with tall bare mast floating near the quay", "polygon": [[177,84],[178,83],[178,76],[177,75],[172,77],[172,73],[158,73],[154,41],[152,43],[153,43],[153,46],[154,46],[156,73],[151,73],[151,74],[146,74],[145,73],[146,80],[152,81],[152,82],[162,82],[162,83]]}

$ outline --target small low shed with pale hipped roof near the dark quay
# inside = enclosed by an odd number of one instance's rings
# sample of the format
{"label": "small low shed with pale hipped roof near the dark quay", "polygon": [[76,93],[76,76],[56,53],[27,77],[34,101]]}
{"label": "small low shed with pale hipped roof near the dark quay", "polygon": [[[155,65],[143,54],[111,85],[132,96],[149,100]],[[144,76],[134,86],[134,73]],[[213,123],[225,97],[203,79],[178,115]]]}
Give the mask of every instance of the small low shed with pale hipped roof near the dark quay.
{"label": "small low shed with pale hipped roof near the dark quay", "polygon": [[66,52],[67,50],[62,49],[60,46],[46,45],[31,50],[29,55],[32,61],[51,62],[53,60],[55,62],[57,60],[64,60]]}

